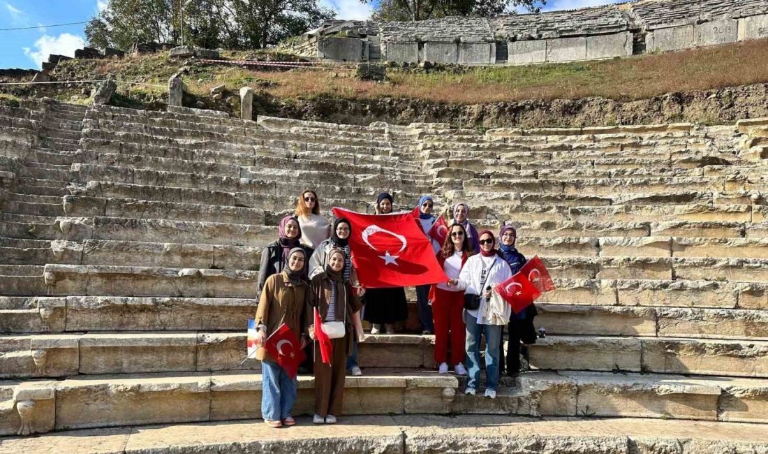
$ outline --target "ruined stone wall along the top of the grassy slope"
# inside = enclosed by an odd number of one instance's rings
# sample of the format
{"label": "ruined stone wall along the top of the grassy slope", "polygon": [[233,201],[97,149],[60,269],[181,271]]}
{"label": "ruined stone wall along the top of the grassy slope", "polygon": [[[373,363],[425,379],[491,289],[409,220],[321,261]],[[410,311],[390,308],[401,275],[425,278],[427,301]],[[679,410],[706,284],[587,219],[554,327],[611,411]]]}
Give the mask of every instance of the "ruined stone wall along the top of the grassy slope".
{"label": "ruined stone wall along the top of the grassy slope", "polygon": [[[367,24],[369,32],[359,38],[323,38],[330,35],[326,30],[359,30],[364,28],[362,24]],[[334,22],[303,35],[298,55],[331,61],[528,65],[628,57],[766,37],[768,0],[644,0],[497,18]],[[377,52],[380,58],[376,58]]]}

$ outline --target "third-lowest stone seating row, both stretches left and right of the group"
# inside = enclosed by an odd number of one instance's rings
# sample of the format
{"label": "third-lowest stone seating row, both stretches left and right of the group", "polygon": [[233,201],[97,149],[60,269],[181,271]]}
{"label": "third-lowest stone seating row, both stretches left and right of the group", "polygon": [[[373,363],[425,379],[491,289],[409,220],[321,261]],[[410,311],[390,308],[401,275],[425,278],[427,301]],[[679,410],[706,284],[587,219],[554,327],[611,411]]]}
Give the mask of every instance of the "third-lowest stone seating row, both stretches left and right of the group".
{"label": "third-lowest stone seating row, both stretches left and right of the group", "polygon": [[[0,333],[240,332],[256,306],[253,298],[0,297]],[[547,302],[537,306],[537,323],[550,335],[768,340],[765,304],[752,309]]]}

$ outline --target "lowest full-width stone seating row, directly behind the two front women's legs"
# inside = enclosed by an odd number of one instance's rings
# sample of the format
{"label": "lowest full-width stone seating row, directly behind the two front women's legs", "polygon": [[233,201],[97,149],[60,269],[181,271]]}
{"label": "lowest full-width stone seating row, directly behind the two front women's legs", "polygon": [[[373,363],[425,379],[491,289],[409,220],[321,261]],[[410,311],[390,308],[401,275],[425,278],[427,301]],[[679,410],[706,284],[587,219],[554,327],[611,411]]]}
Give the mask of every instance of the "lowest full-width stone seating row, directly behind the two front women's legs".
{"label": "lowest full-width stone seating row, directly behind the two front women's legs", "polygon": [[[759,379],[526,373],[516,380],[517,386],[490,400],[457,393],[453,376],[371,372],[346,380],[346,415],[501,413],[760,422],[766,413]],[[23,422],[34,432],[258,418],[260,378],[254,373],[157,373],[5,382],[0,384],[0,396],[6,399],[0,405],[5,413],[0,434],[15,433],[22,426],[14,403],[31,406]],[[311,413],[312,388],[313,377],[300,376],[296,415]]]}

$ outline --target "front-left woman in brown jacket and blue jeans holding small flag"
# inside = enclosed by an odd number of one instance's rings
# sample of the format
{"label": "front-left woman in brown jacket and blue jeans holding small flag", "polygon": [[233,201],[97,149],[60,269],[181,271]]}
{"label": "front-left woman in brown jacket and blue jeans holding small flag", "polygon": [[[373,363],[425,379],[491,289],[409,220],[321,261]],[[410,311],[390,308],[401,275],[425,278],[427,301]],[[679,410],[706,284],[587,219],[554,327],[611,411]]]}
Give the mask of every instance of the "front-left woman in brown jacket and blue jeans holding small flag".
{"label": "front-left woman in brown jacket and blue jeans holding small flag", "polygon": [[266,279],[256,311],[256,357],[261,360],[261,416],[270,427],[293,426],[291,416],[296,402],[296,377],[291,378],[264,348],[266,338],[285,323],[306,346],[306,307],[310,303],[310,283],[305,280],[306,252],[294,247],[288,253],[286,268]]}

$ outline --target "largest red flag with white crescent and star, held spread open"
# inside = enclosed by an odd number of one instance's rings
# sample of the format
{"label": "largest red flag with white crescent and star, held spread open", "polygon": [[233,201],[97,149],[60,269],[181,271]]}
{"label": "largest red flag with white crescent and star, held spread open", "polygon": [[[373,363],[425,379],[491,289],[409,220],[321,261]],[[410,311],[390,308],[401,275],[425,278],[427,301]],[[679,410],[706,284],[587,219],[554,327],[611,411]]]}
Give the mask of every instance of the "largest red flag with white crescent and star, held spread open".
{"label": "largest red flag with white crescent and star, held spread open", "polygon": [[362,287],[409,287],[448,280],[412,213],[359,214],[333,208],[352,224],[349,248]]}

